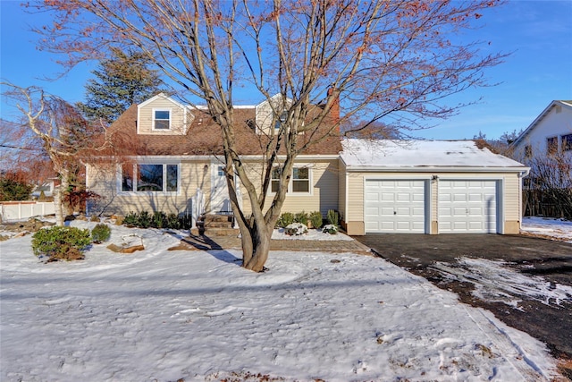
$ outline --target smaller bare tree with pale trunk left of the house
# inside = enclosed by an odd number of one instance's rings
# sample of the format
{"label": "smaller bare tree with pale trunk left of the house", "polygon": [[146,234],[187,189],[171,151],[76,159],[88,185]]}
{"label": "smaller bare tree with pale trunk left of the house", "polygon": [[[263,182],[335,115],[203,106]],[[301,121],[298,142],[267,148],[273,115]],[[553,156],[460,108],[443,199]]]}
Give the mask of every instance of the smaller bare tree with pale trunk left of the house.
{"label": "smaller bare tree with pale trunk left of the house", "polygon": [[[63,225],[63,197],[70,189],[70,180],[80,172],[82,155],[94,149],[90,137],[101,132],[94,130],[80,112],[62,98],[46,95],[37,87],[21,88],[9,82],[2,82],[9,98],[20,110],[22,123],[20,136],[29,136],[28,144],[41,146],[20,148],[33,149],[49,157],[52,169],[61,184],[55,188],[56,225]],[[23,163],[23,162],[22,162]],[[29,164],[31,162],[28,162]]]}

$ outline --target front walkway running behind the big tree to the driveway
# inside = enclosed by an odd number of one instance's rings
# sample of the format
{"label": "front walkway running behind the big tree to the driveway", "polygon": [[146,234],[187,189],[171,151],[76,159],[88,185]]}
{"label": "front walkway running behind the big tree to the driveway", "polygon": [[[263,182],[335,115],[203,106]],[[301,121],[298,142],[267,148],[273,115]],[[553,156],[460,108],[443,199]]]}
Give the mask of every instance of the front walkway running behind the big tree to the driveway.
{"label": "front walkway running behind the big tree to the driveway", "polygon": [[[240,250],[240,238],[236,236],[194,236],[181,239],[181,244],[171,250]],[[320,252],[353,252],[369,254],[369,247],[357,240],[273,240],[270,250],[296,250]]]}

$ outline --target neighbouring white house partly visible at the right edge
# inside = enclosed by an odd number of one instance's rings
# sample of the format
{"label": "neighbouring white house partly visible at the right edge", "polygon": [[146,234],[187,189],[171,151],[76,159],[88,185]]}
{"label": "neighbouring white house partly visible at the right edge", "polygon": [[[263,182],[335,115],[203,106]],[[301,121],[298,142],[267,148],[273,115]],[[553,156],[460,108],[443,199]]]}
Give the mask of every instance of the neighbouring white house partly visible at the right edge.
{"label": "neighbouring white house partly visible at the right edge", "polygon": [[572,152],[572,101],[552,101],[510,148],[513,157],[521,161],[554,152]]}

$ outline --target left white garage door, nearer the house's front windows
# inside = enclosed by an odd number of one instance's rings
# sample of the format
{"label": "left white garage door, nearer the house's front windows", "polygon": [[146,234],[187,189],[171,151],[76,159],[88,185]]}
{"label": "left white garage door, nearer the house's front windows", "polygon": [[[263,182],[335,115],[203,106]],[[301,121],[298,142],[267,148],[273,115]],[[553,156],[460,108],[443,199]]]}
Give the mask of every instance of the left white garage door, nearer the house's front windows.
{"label": "left white garage door, nearer the house's front windows", "polygon": [[366,180],[366,233],[425,233],[425,181]]}

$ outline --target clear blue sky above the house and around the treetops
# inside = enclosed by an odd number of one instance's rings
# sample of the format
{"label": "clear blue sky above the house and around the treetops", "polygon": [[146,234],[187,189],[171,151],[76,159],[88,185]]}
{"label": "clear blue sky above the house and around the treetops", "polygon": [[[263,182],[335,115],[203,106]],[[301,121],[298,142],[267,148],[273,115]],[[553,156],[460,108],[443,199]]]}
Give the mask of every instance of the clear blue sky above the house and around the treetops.
{"label": "clear blue sky above the house and around the treetops", "polygon": [[[0,0],[0,77],[16,85],[37,85],[69,102],[82,101],[84,85],[97,63],[82,64],[57,81],[62,69],[54,55],[36,48],[30,26],[46,22],[46,14],[29,14],[21,0]],[[491,42],[491,52],[512,52],[504,64],[487,72],[498,85],[472,89],[448,101],[475,101],[446,121],[416,136],[428,139],[471,139],[478,132],[498,138],[502,132],[521,130],[548,106],[552,99],[572,99],[572,1],[513,0],[484,12],[482,27],[471,38]],[[255,104],[260,99],[245,99]],[[13,109],[1,103],[0,115],[13,119]]]}

